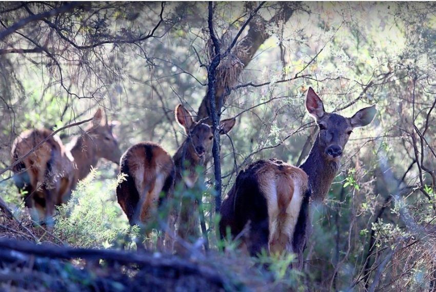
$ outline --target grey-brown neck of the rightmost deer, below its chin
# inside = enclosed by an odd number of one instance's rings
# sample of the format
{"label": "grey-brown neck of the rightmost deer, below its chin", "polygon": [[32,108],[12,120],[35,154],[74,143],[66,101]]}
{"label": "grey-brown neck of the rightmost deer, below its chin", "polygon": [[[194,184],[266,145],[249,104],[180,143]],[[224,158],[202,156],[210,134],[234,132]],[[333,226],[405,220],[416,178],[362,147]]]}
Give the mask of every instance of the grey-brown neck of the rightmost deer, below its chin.
{"label": "grey-brown neck of the rightmost deer, below its chin", "polygon": [[309,156],[300,165],[309,176],[309,183],[312,188],[312,198],[315,201],[324,200],[330,185],[339,169],[339,163],[327,160],[321,154],[319,136],[316,138]]}

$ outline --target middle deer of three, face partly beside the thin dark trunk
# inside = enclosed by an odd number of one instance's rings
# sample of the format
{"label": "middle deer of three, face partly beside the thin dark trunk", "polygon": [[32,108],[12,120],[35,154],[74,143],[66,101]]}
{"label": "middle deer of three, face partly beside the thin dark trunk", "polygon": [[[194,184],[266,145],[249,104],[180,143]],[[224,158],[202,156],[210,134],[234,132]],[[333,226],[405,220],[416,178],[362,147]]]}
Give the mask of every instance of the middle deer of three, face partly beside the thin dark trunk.
{"label": "middle deer of three, face partly beside the thin dark trunk", "polygon": [[[127,174],[127,180],[116,189],[118,203],[128,217],[130,225],[151,224],[156,218],[156,212],[165,206],[164,203],[170,205],[164,242],[157,242],[158,249],[164,246],[167,251],[174,248],[172,239],[175,238],[177,218],[180,217],[177,234],[182,239],[187,239],[192,234],[196,235],[196,203],[182,198],[179,216],[180,207],[177,206],[177,202],[172,204],[174,186],[183,184],[183,187],[191,188],[195,184],[199,177],[195,168],[204,162],[213,140],[211,127],[202,121],[195,122],[190,112],[182,105],[175,107],[174,115],[177,123],[185,130],[186,138],[173,157],[153,142],[133,145],[121,158],[120,172]],[[220,133],[228,133],[234,124],[235,119],[223,120]],[[181,250],[182,247],[177,246],[179,245],[176,245],[176,248]]]}

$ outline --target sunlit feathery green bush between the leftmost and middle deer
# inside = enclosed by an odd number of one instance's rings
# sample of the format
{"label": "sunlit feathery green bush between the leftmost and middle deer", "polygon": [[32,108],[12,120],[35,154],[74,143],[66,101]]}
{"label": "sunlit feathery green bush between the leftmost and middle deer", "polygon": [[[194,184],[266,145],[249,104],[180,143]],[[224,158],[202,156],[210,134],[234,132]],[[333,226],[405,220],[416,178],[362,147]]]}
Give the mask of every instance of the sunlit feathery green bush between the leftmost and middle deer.
{"label": "sunlit feathery green bush between the leftmost and middle deer", "polygon": [[53,232],[73,246],[108,248],[130,232],[114,195],[124,175],[104,181],[97,181],[96,175],[93,169],[78,183],[68,203],[58,207]]}

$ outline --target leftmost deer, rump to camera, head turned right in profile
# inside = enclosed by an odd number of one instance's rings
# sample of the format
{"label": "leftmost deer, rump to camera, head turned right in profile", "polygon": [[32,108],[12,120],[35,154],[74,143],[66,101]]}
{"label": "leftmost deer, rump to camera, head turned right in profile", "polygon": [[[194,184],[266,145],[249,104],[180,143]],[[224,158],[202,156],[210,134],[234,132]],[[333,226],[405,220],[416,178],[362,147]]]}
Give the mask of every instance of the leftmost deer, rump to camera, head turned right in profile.
{"label": "leftmost deer, rump to camera, head turned right in profile", "polygon": [[[20,193],[26,192],[25,205],[36,210],[40,222],[52,225],[55,206],[69,200],[77,182],[90,173],[98,159],[119,163],[121,151],[112,133],[116,122],[108,123],[105,117],[104,122],[103,112],[98,109],[92,125],[68,145],[48,129],[27,130],[15,138],[12,163],[33,152],[14,166],[13,180]],[[47,140],[34,149],[44,139]]]}

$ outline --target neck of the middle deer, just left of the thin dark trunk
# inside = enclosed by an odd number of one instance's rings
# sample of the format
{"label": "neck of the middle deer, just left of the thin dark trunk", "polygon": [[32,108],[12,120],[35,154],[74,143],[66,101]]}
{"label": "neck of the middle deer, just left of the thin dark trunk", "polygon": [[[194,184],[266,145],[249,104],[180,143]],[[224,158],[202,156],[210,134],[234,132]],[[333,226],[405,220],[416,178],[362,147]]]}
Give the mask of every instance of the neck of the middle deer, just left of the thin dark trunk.
{"label": "neck of the middle deer, just left of the thin dark trunk", "polygon": [[187,177],[185,178],[185,184],[191,187],[199,178],[199,175],[195,171],[197,165],[202,164],[202,159],[193,154],[192,145],[189,139],[186,139],[173,156],[175,166],[175,181],[177,185],[183,178],[183,172],[187,171]]}

